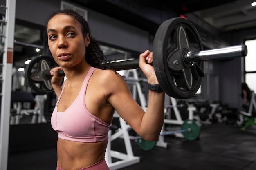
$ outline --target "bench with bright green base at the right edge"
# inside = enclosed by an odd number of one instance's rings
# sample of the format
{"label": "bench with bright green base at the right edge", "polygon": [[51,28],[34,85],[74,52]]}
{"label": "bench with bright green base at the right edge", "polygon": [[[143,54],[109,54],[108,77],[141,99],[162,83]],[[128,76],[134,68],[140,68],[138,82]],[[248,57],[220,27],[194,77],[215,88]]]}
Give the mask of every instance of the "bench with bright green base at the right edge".
{"label": "bench with bright green base at the right edge", "polygon": [[255,102],[255,93],[254,91],[251,91],[251,100],[249,104],[249,109],[247,112],[240,111],[240,121],[237,121],[238,124],[244,124],[244,126],[241,128],[242,130],[245,130],[248,126],[256,125],[256,102]]}

